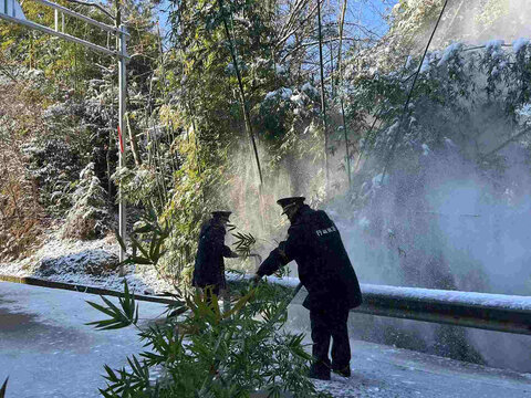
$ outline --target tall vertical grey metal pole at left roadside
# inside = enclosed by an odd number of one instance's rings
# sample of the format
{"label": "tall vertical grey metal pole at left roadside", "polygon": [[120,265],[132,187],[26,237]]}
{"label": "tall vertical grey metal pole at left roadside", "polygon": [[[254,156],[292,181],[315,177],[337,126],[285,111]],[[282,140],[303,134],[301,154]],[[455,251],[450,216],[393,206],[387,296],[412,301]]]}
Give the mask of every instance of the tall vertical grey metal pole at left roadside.
{"label": "tall vertical grey metal pole at left roadside", "polygon": [[[125,54],[126,54],[126,40],[125,40],[125,28],[123,24],[119,25],[119,55],[118,55],[118,91],[119,91],[119,105],[118,105],[118,118],[119,118],[119,130],[121,130],[121,139],[122,145],[118,146],[118,166],[119,168],[125,166],[125,154],[126,154],[126,146],[125,146],[125,97],[126,97],[126,74],[125,74]],[[119,182],[118,187],[118,233],[122,237],[122,240],[125,242],[126,239],[126,209],[125,202],[123,197],[123,189],[122,182]],[[121,247],[119,248],[119,261],[125,260],[125,250]],[[119,269],[119,274],[124,275],[125,270],[123,265]]]}

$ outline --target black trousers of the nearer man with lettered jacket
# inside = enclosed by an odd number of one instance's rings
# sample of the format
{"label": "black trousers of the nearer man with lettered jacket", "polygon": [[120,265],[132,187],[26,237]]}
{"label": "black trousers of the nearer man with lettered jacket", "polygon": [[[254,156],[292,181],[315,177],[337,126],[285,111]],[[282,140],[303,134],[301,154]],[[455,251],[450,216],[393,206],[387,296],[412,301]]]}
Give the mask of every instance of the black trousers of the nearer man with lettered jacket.
{"label": "black trousers of the nearer man with lettered jacket", "polygon": [[312,354],[315,366],[330,371],[330,341],[332,339],[332,367],[343,369],[351,364],[351,345],[348,342],[348,308],[310,310],[312,326]]}

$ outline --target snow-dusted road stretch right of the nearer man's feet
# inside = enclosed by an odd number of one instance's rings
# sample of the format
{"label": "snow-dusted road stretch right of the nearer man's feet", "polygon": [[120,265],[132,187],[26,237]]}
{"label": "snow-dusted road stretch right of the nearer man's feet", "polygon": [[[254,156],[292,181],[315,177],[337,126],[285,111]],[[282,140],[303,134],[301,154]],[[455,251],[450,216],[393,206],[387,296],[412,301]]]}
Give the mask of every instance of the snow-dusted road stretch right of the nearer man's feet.
{"label": "snow-dusted road stretch right of the nearer man's feet", "polygon": [[319,383],[336,398],[524,398],[531,375],[352,341],[353,376]]}

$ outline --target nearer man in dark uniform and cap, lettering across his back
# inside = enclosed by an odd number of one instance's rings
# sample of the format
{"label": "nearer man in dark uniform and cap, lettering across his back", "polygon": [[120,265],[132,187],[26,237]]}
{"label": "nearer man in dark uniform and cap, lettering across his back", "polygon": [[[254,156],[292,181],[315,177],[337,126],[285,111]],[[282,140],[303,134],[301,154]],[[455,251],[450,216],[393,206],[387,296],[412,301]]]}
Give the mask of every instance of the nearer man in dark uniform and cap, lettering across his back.
{"label": "nearer man in dark uniform and cap, lettering across his back", "polygon": [[324,211],[312,210],[302,197],[280,199],[277,203],[291,222],[288,239],[262,262],[253,281],[295,260],[299,279],[308,290],[302,305],[310,310],[315,358],[310,377],[329,380],[331,369],[350,377],[348,311],[362,303],[362,292],[340,231]]}

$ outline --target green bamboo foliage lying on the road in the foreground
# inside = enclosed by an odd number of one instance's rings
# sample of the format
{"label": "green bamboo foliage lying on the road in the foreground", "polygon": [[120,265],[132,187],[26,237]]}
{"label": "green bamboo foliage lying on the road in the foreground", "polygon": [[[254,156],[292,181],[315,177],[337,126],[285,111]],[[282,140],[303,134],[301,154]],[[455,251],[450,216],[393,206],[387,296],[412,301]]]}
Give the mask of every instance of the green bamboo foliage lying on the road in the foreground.
{"label": "green bamboo foliage lying on the road in the foreground", "polygon": [[[125,289],[121,308],[110,301],[105,301],[107,306],[91,303],[110,316],[92,324],[108,328],[136,323],[136,304]],[[282,391],[294,397],[324,396],[305,377],[312,358],[304,348],[304,336],[282,329],[291,294],[267,283],[242,286],[227,312],[212,294],[210,300],[197,292],[171,294],[175,304],[166,322],[139,332],[150,350],[140,354],[142,360],[128,358],[127,369],[105,366],[107,387],[102,395],[221,398],[252,397],[262,389],[271,397]],[[155,386],[149,384],[154,368],[163,370]]]}

